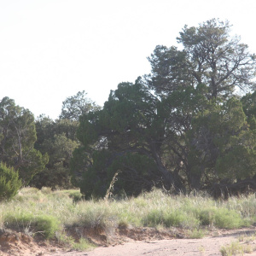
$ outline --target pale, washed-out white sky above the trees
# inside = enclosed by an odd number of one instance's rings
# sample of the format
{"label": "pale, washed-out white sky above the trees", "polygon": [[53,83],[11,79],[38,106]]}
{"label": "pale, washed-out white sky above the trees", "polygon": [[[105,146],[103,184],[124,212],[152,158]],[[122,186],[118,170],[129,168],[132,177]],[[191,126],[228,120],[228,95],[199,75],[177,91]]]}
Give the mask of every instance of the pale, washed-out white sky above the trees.
{"label": "pale, washed-out white sky above the trees", "polygon": [[156,45],[177,46],[184,25],[212,18],[256,53],[255,10],[255,0],[0,0],[0,101],[51,119],[82,90],[103,106],[150,73]]}

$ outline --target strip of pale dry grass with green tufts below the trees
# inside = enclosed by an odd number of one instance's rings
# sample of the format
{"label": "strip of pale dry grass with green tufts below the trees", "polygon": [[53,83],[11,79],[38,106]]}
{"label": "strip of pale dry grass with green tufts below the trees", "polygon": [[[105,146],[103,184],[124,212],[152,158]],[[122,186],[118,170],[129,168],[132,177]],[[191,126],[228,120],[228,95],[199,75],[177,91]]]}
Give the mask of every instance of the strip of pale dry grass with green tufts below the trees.
{"label": "strip of pale dry grass with green tufts below the trees", "polygon": [[104,230],[108,235],[120,225],[175,226],[188,230],[191,237],[201,237],[201,228],[236,229],[252,224],[256,216],[254,195],[214,201],[202,195],[170,196],[155,189],[121,201],[80,198],[79,190],[21,189],[13,201],[0,205],[0,225],[48,238],[70,227]]}

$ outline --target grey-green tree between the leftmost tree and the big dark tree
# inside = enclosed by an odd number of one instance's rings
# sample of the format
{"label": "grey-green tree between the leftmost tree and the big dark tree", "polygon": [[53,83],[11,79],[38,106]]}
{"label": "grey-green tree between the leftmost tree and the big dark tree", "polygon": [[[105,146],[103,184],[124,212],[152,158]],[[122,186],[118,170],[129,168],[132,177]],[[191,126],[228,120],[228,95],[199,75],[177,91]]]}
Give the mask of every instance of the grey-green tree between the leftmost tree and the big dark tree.
{"label": "grey-green tree between the leftmost tree and the big dark tree", "polygon": [[49,161],[44,172],[33,177],[30,185],[39,189],[42,187],[72,188],[69,164],[73,150],[79,145],[75,139],[78,121],[68,119],[52,121],[41,116],[36,125],[38,141],[35,147],[43,154],[48,154]]}

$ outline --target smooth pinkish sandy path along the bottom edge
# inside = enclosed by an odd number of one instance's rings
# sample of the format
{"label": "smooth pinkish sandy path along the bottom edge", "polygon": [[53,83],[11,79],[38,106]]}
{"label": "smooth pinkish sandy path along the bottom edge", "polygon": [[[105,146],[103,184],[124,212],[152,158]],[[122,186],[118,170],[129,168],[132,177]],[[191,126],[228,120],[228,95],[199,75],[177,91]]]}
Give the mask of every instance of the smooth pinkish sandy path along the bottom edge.
{"label": "smooth pinkish sandy path along the bottom edge", "polygon": [[[87,252],[58,252],[47,254],[50,256],[217,256],[222,246],[237,241],[241,232],[225,234],[218,237],[206,237],[202,239],[172,239],[158,241],[132,241],[114,247],[97,247]],[[255,243],[256,241],[253,241]],[[255,246],[255,244],[254,244]],[[44,254],[45,255],[45,254]],[[249,255],[256,255],[256,252]]]}

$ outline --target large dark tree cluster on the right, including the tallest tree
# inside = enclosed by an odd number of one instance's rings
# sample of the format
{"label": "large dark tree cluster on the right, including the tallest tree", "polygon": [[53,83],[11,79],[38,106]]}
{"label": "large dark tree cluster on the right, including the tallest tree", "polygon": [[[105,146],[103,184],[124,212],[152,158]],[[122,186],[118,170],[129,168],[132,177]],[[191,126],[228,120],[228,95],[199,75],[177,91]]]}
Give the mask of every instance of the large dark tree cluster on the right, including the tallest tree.
{"label": "large dark tree cluster on the right, including the tallest tree", "polygon": [[152,183],[179,193],[255,175],[255,92],[234,93],[254,88],[254,55],[228,21],[184,26],[177,42],[183,49],[156,46],[151,74],[119,84],[80,118],[72,172],[88,198],[109,184],[117,195]]}

